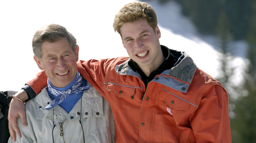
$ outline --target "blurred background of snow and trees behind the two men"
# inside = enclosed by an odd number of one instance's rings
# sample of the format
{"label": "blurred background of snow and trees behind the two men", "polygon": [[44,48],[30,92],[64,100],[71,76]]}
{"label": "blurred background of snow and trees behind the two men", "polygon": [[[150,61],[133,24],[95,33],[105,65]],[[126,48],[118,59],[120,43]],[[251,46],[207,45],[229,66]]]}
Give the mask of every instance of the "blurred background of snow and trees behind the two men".
{"label": "blurred background of snow and trees behind the two men", "polygon": [[[76,37],[80,60],[128,56],[112,25],[132,1],[0,1],[0,91],[19,91],[40,71],[31,43],[46,24],[60,24]],[[141,1],[157,13],[160,43],[186,51],[226,88],[232,142],[256,142],[256,1]]]}

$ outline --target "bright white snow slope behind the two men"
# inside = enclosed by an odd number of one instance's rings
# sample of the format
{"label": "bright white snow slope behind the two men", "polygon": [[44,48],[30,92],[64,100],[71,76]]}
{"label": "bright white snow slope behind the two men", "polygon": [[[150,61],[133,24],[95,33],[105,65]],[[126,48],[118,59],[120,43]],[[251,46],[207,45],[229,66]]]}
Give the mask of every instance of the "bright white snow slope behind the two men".
{"label": "bright white snow slope behind the two men", "polygon": [[[132,1],[1,1],[0,91],[19,91],[40,71],[33,60],[31,42],[36,30],[46,24],[63,25],[76,37],[81,60],[128,56],[112,24],[118,10]],[[192,22],[181,15],[181,7],[174,1],[165,5],[156,1],[148,3],[158,16],[160,43],[171,49],[186,51],[200,69],[213,77],[220,76],[218,59],[221,54],[214,47],[215,38],[200,36]],[[230,44],[246,48],[244,41]],[[238,83],[242,80],[237,77],[242,77],[243,57],[242,53],[232,63],[240,67],[235,78]]]}

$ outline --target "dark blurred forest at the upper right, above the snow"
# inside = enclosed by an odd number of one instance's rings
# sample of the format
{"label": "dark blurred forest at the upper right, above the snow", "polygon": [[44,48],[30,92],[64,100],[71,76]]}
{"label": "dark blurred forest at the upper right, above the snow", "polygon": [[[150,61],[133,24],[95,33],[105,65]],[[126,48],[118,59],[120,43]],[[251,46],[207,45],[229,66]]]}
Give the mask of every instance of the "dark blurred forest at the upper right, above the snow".
{"label": "dark blurred forest at the upper right, above the snow", "polygon": [[[164,3],[168,0],[160,0]],[[227,29],[234,40],[244,40],[247,36],[251,4],[254,0],[176,0],[182,6],[182,13],[189,17],[201,34],[215,35],[219,16],[225,12],[229,25]]]}

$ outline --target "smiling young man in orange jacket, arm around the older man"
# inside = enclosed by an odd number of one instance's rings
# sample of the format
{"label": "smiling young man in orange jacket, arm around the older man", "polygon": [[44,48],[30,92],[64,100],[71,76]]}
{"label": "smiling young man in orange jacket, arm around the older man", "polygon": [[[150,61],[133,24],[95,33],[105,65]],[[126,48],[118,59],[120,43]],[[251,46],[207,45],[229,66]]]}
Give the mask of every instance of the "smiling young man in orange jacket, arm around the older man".
{"label": "smiling young man in orange jacket, arm around the older man", "polygon": [[[160,45],[150,5],[125,5],[113,27],[130,58],[79,61],[77,66],[110,103],[116,142],[231,142],[226,90],[185,52]],[[36,93],[46,86],[43,75],[27,83]]]}

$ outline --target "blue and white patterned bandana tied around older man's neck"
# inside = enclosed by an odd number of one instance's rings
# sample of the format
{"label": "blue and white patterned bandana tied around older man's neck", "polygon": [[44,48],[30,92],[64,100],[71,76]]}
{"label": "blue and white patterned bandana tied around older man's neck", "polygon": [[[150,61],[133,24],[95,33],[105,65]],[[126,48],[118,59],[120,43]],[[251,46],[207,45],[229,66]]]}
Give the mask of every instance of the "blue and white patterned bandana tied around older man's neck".
{"label": "blue and white patterned bandana tied around older man's neck", "polygon": [[88,90],[90,86],[86,86],[86,87],[81,87],[82,85],[82,76],[80,75],[80,73],[77,71],[77,78],[76,78],[76,81],[75,81],[75,84],[69,88],[68,90],[66,91],[60,91],[58,89],[55,89],[54,87],[51,86],[50,84],[50,80],[48,78],[47,80],[47,84],[48,84],[48,90],[54,95],[54,96],[57,96],[48,106],[46,106],[44,109],[46,110],[50,110],[52,109],[54,106],[58,105],[59,103],[61,103],[64,98],[67,98],[69,97],[70,95],[72,94],[77,94],[77,93],[80,93],[80,92],[83,92],[85,90]]}

